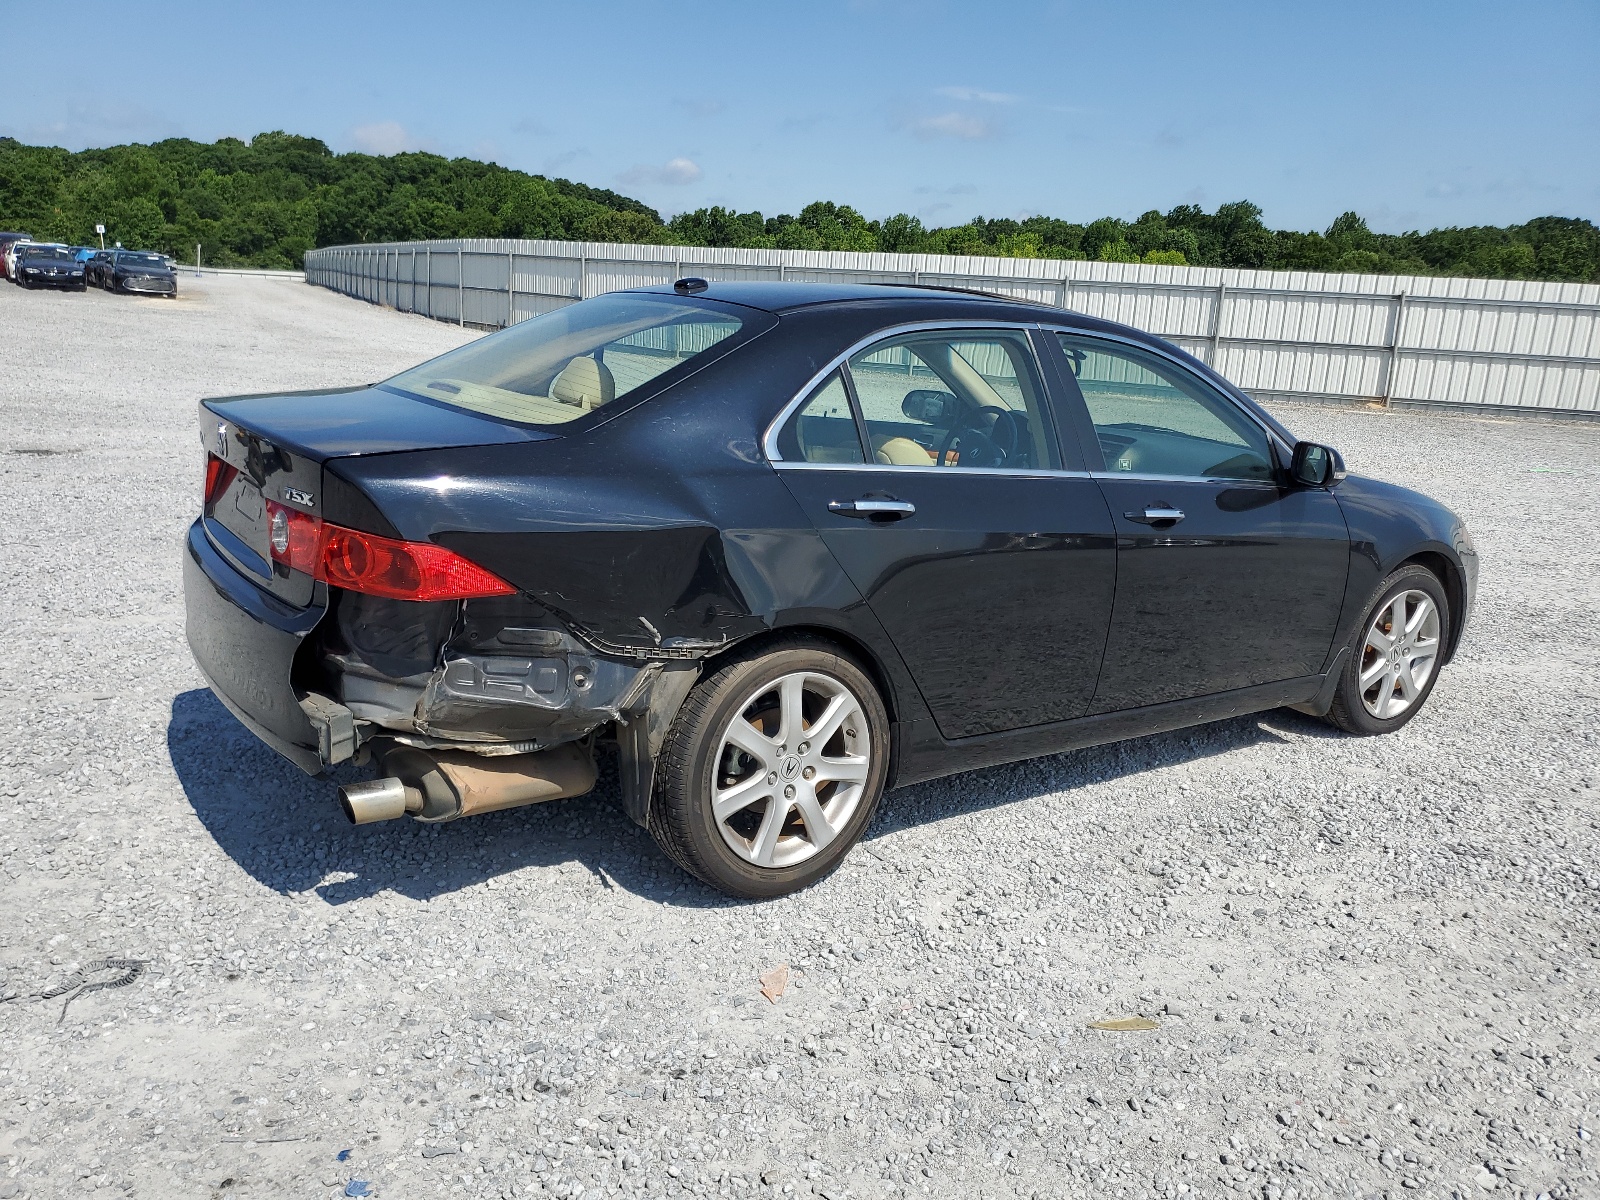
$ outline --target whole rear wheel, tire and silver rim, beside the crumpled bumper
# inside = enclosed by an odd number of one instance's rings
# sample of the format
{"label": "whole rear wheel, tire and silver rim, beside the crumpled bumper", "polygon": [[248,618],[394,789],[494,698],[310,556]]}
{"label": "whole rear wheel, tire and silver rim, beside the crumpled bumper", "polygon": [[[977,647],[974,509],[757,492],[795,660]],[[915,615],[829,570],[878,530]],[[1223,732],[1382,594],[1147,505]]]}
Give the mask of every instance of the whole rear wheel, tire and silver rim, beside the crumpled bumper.
{"label": "whole rear wheel, tire and silver rim, beside the crumpled bumper", "polygon": [[872,678],[826,642],[794,640],[696,685],[656,763],[650,832],[704,883],[770,899],[832,874],[888,779]]}

